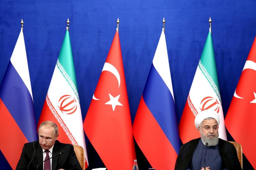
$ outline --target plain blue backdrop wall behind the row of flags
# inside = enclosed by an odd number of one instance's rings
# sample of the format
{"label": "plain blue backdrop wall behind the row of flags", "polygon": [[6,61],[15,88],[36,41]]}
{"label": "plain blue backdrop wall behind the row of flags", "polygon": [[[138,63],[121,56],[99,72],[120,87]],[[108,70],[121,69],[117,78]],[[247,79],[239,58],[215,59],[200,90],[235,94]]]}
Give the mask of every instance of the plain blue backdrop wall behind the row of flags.
{"label": "plain blue backdrop wall behind the row of flags", "polygon": [[[208,20],[211,16],[212,39],[225,116],[256,34],[255,8],[255,0],[2,0],[0,81],[19,36],[20,20],[23,18],[38,122],[69,18],[84,120],[119,17],[119,36],[133,121],[160,38],[164,17],[175,107],[180,120],[209,32]],[[228,138],[232,140],[230,136]],[[86,142],[90,164],[88,169],[103,167],[104,164],[88,139]],[[150,167],[138,147],[136,153],[140,169]],[[0,167],[10,169],[1,152]],[[244,168],[246,167],[251,168],[244,159]]]}

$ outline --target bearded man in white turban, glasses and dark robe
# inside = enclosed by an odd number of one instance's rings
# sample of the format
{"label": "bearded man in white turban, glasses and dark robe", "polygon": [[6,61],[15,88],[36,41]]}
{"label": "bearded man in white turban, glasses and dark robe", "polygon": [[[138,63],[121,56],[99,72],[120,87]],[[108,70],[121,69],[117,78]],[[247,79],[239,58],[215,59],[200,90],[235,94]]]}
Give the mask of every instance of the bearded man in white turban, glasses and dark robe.
{"label": "bearded man in white turban, glasses and dark robe", "polygon": [[195,126],[201,138],[181,146],[175,170],[242,169],[234,145],[219,138],[219,124],[220,116],[215,111],[204,110],[196,115]]}

